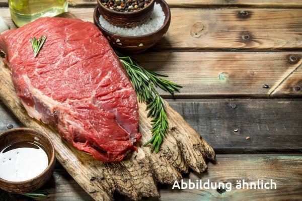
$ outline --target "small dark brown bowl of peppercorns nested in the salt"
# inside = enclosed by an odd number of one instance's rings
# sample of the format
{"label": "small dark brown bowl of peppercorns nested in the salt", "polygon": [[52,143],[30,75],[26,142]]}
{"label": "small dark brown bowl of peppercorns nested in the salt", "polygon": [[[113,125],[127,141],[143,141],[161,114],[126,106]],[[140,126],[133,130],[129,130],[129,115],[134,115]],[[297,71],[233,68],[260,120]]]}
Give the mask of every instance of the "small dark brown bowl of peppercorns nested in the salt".
{"label": "small dark brown bowl of peppercorns nested in the salt", "polygon": [[118,27],[136,27],[143,24],[151,15],[154,8],[154,0],[149,5],[141,10],[135,12],[118,12],[106,8],[101,0],[98,0],[98,9],[103,18],[109,23]]}

